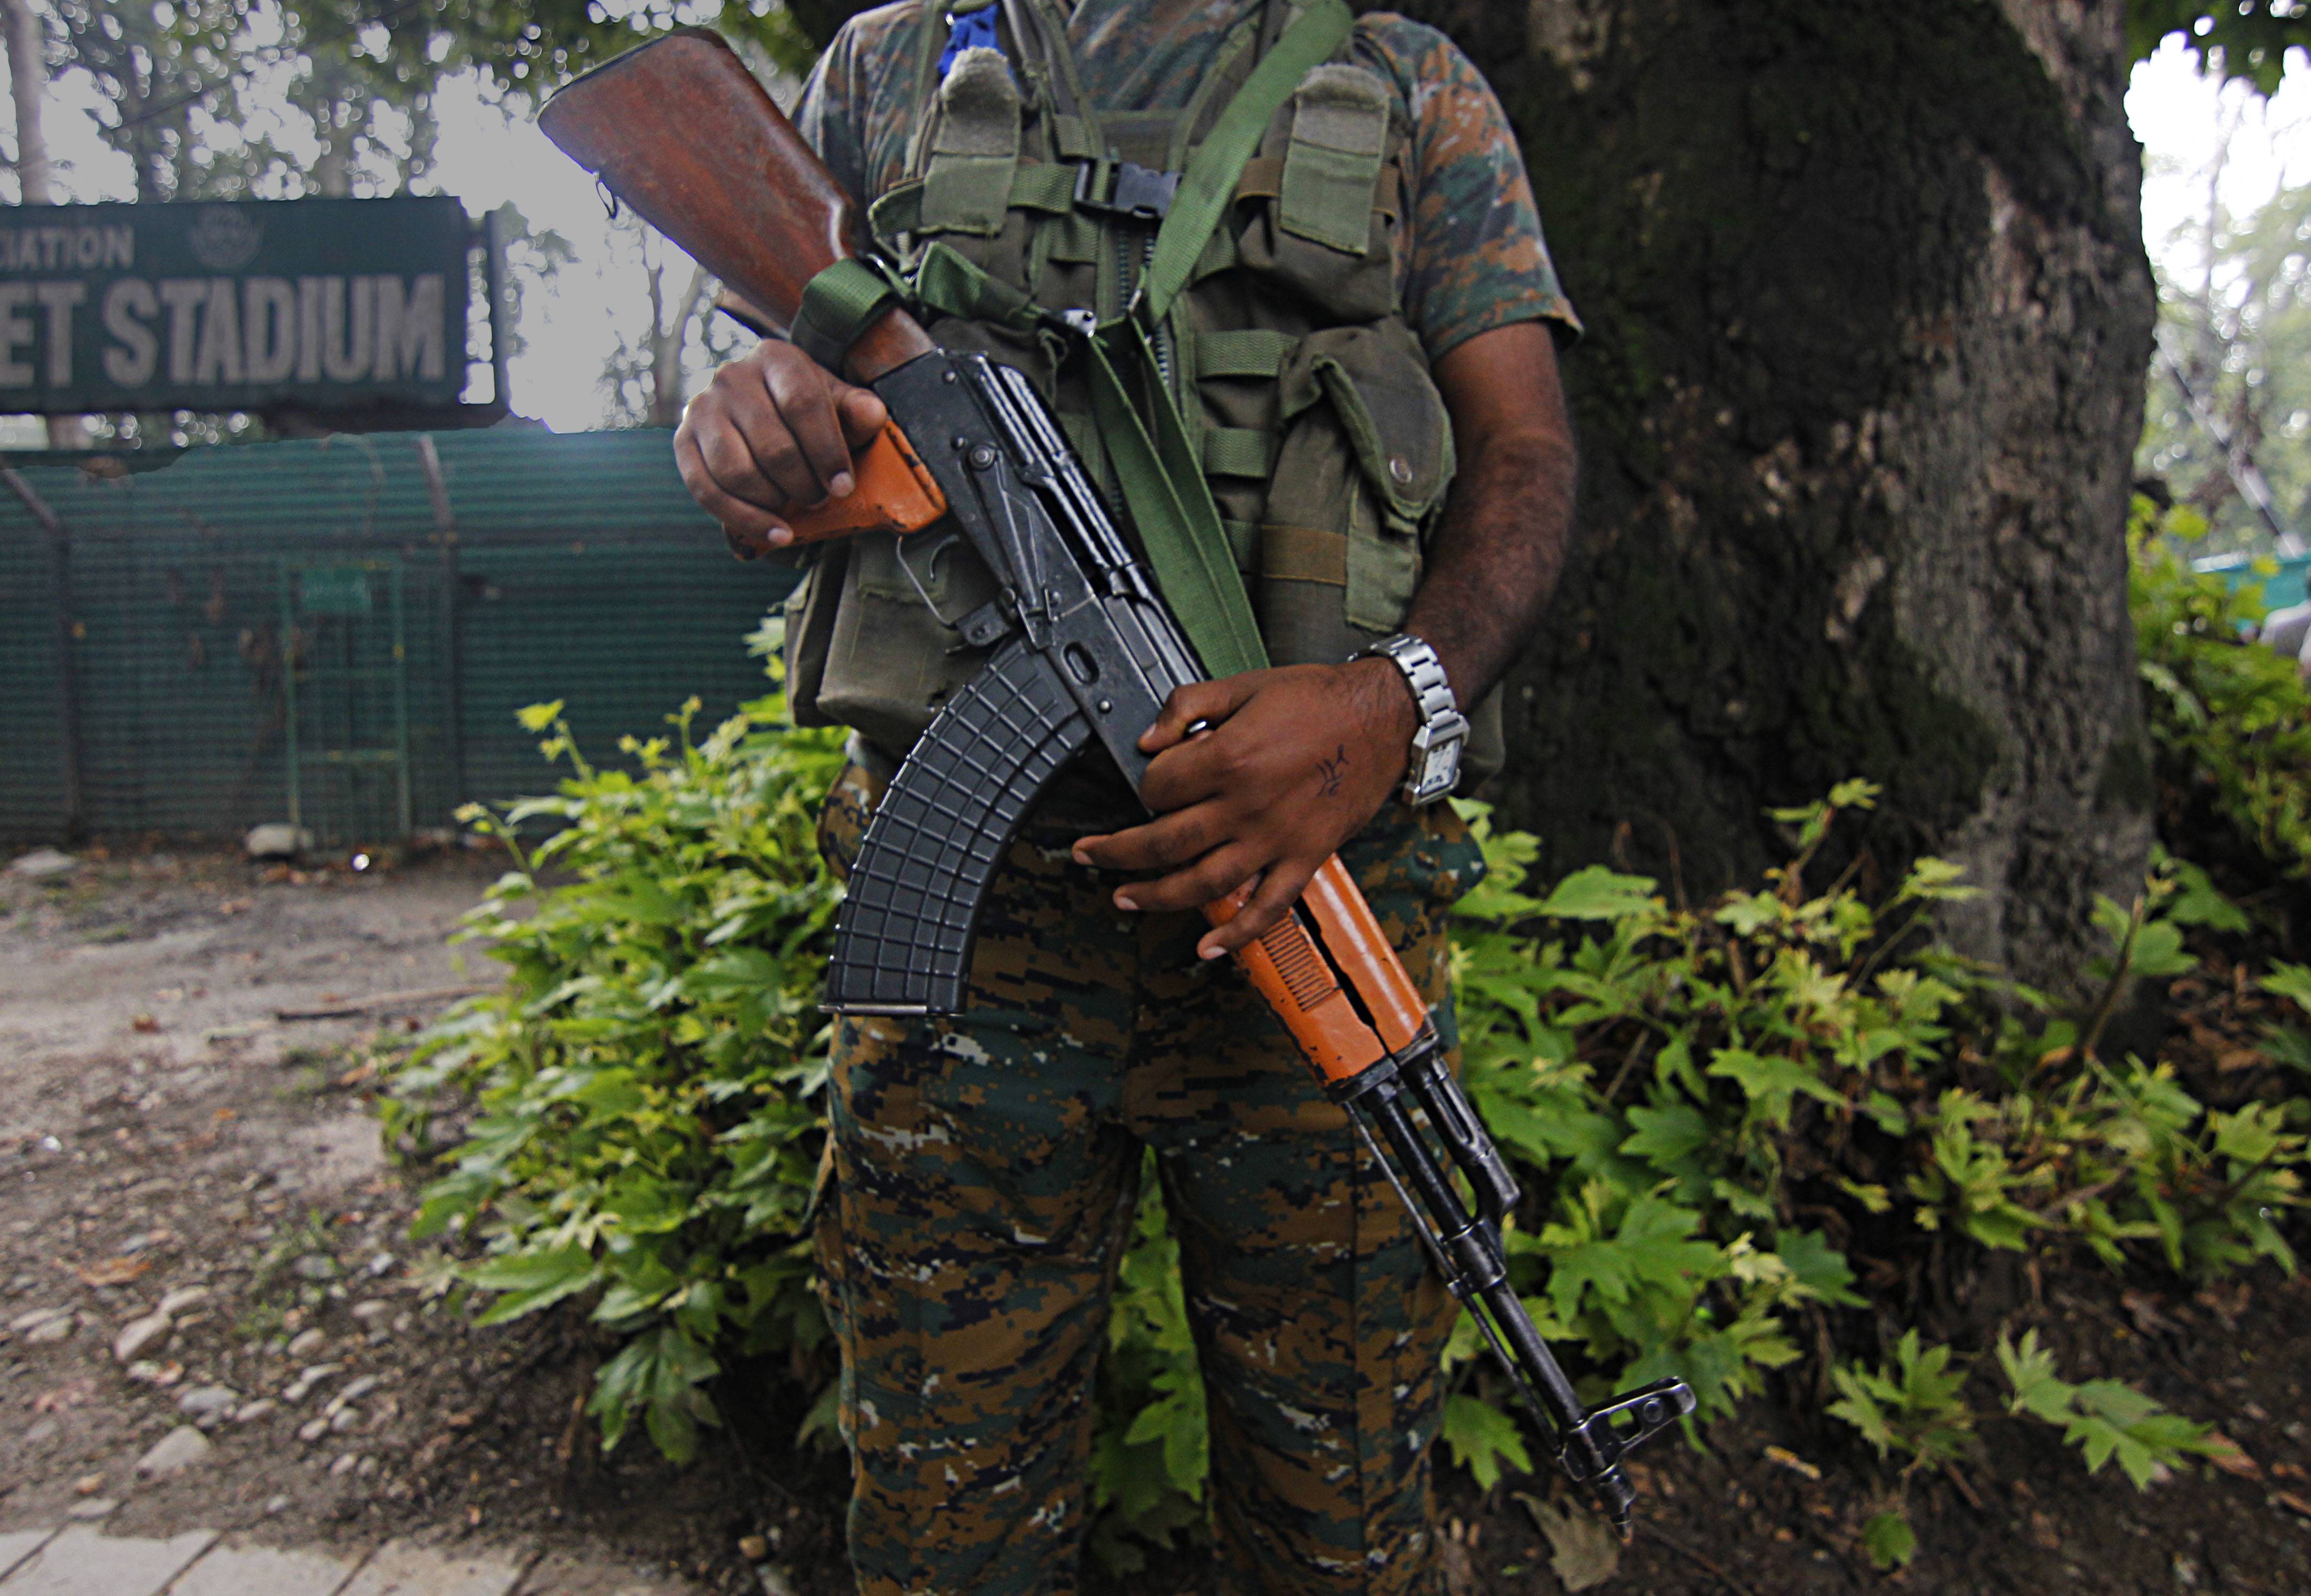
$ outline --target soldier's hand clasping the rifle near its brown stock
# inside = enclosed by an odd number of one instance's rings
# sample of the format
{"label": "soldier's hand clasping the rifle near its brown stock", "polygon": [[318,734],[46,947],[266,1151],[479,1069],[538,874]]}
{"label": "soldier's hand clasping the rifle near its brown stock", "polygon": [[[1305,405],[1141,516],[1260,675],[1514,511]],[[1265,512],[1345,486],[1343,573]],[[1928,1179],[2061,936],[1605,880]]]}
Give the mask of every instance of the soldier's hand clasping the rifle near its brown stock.
{"label": "soldier's hand clasping the rifle near its brown stock", "polygon": [[675,467],[749,559],[795,540],[786,517],[857,485],[850,455],[887,420],[883,400],[765,337],[682,411]]}

